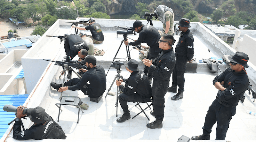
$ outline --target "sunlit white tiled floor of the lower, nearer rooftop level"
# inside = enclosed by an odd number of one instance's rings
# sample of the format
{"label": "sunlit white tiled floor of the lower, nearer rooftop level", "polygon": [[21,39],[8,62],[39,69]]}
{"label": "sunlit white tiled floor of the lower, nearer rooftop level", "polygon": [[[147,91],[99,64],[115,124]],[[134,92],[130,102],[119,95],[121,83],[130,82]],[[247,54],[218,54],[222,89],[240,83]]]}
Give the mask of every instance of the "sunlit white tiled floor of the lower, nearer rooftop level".
{"label": "sunlit white tiled floor of the lower, nearer rooftop level", "polygon": [[[105,71],[107,72],[107,69]],[[60,114],[60,121],[58,123],[65,131],[67,140],[86,138],[103,141],[127,139],[168,140],[174,142],[182,135],[191,138],[194,135],[202,134],[206,111],[218,92],[212,85],[212,80],[217,74],[185,73],[184,98],[178,101],[172,101],[171,97],[175,93],[167,92],[165,95],[162,129],[149,129],[146,127],[147,123],[155,120],[150,115],[150,109],[145,111],[150,121],[141,113],[134,119],[131,118],[124,123],[116,122],[116,119],[123,114],[123,110],[118,105],[118,116],[116,117],[116,96],[108,95],[105,98],[115,75],[116,70],[111,68],[107,76],[107,89],[99,103],[90,101],[90,98],[84,96],[81,91],[63,92],[63,95],[79,96],[81,101],[89,105],[88,110],[84,110],[84,113],[80,111],[79,124],[76,123],[78,108],[61,106],[63,112]],[[122,71],[121,75],[124,78],[128,78],[130,73]],[[57,122],[58,108],[55,106],[55,103],[59,102],[60,92],[50,90],[51,93],[49,95],[52,95],[52,100],[49,108],[45,109]],[[111,87],[111,91],[116,92],[115,83]],[[256,112],[255,103],[252,102],[252,95],[248,96],[247,94],[248,91],[246,91],[244,103],[239,102],[236,115],[233,116],[230,122],[226,140],[231,142],[256,141],[256,116],[248,113],[250,110]],[[128,105],[131,117],[140,112],[140,109],[135,107],[135,103],[129,102]],[[141,106],[145,108],[146,104],[142,104]],[[212,128],[211,140],[215,139],[215,130],[216,124]]]}

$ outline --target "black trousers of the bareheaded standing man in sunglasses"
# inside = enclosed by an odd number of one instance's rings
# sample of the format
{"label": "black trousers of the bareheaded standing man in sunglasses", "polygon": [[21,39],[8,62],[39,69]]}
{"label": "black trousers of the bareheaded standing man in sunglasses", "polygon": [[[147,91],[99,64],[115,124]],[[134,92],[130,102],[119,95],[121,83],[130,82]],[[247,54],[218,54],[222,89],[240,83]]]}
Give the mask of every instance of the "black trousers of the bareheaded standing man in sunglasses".
{"label": "black trousers of the bareheaded standing man in sunglasses", "polygon": [[164,95],[167,92],[170,80],[158,81],[153,79],[153,110],[157,120],[164,119]]}

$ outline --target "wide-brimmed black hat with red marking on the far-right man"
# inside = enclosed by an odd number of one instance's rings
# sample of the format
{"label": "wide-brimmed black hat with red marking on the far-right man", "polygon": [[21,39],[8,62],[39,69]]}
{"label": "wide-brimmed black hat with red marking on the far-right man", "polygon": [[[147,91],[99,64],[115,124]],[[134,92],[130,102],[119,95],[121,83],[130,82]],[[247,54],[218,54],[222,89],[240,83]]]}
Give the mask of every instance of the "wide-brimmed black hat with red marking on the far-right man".
{"label": "wide-brimmed black hat with red marking on the far-right man", "polygon": [[249,65],[247,64],[249,57],[244,52],[237,51],[235,55],[228,56],[228,60],[236,64],[241,64],[246,68],[249,67]]}

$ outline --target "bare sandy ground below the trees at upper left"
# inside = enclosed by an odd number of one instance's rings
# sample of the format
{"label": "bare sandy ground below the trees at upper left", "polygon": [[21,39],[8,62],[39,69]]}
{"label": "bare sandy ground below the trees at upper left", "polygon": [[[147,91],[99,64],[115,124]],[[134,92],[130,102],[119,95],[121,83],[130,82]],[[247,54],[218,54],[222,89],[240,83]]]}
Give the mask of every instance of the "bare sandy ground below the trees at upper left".
{"label": "bare sandy ground below the trees at upper left", "polygon": [[19,25],[18,28],[17,26],[12,26],[11,23],[9,22],[1,22],[0,23],[0,36],[5,36],[8,34],[9,30],[14,30],[16,29],[18,31],[18,35],[20,37],[24,37],[24,36],[29,36],[33,30],[35,29],[35,27],[28,27],[28,28],[24,28],[25,26],[23,25]]}

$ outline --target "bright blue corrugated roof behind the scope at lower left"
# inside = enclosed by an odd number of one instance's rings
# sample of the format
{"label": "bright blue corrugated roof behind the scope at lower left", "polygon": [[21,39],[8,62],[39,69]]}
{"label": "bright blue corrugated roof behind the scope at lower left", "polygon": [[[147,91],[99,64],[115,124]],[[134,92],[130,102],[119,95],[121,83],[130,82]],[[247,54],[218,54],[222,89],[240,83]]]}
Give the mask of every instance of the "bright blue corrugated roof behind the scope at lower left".
{"label": "bright blue corrugated roof behind the scope at lower left", "polygon": [[13,105],[18,107],[23,105],[27,100],[29,94],[25,95],[0,95],[0,139],[3,137],[5,131],[9,128],[10,125],[7,125],[11,122],[16,116],[13,112],[4,111],[4,105]]}

